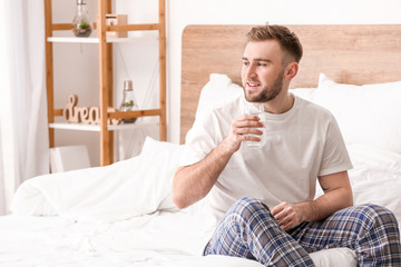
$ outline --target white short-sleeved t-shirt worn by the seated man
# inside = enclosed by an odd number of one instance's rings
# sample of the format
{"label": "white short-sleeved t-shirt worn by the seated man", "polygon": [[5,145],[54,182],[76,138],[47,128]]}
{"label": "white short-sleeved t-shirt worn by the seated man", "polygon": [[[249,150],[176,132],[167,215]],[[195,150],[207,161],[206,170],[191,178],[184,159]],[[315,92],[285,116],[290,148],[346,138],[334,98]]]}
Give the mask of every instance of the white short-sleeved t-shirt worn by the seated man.
{"label": "white short-sleeved t-shirt worn by the seated man", "polygon": [[[265,112],[266,144],[250,148],[243,142],[218,177],[208,196],[217,221],[245,196],[260,198],[268,207],[312,200],[319,176],[352,168],[330,111],[294,98],[287,112]],[[243,96],[236,97],[196,118],[186,137],[180,166],[200,161],[221,144],[233,119],[243,116],[245,101]]]}

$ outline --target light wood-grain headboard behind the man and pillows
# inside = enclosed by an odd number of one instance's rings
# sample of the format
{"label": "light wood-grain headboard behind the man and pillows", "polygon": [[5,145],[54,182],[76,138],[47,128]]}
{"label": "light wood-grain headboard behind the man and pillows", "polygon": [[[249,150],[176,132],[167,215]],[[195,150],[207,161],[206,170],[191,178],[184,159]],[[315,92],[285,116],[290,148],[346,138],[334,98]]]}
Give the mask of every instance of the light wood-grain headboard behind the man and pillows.
{"label": "light wood-grain headboard behind the man and pillows", "polygon": [[[319,73],[344,83],[401,80],[401,24],[287,26],[304,56],[292,88],[316,87]],[[180,142],[192,127],[211,73],[241,83],[245,33],[252,26],[187,26],[183,33]]]}

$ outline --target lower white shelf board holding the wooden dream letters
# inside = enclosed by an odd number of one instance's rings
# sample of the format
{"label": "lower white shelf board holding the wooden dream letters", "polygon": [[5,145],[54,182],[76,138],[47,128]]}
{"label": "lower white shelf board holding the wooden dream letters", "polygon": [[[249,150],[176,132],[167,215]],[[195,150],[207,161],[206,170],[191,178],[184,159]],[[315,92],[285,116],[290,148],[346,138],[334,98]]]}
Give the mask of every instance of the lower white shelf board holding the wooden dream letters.
{"label": "lower white shelf board holding the wooden dream letters", "polygon": [[[149,126],[158,126],[158,122],[135,122],[121,125],[108,125],[107,130],[128,130],[137,129]],[[53,122],[49,123],[49,128],[61,130],[81,130],[81,131],[98,131],[100,132],[99,125],[84,125],[84,123],[68,123],[68,122]]]}

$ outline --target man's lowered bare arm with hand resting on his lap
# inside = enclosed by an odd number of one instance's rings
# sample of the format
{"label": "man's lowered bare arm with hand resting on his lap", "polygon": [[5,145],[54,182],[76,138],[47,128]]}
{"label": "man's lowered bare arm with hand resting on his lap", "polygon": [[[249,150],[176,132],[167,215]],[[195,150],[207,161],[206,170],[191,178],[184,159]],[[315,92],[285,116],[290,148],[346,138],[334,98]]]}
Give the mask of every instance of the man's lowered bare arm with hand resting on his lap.
{"label": "man's lowered bare arm with hand resting on his lap", "polygon": [[299,204],[282,202],[271,209],[284,230],[302,221],[320,221],[353,205],[348,171],[322,176],[319,181],[324,190],[321,197]]}

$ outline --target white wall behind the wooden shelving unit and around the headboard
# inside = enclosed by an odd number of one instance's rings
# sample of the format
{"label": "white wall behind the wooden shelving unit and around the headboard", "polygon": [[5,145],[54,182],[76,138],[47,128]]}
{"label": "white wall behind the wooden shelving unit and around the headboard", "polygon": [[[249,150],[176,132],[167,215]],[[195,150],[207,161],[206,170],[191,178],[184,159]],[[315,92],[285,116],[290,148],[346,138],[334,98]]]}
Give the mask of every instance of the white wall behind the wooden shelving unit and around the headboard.
{"label": "white wall behind the wooden shelving unit and around the headboard", "polygon": [[[96,17],[96,0],[87,0],[91,17]],[[74,2],[53,1],[55,22],[72,19]],[[115,0],[117,13],[128,13],[129,22],[156,22],[157,0]],[[324,23],[401,23],[400,0],[166,0],[167,2],[167,137],[179,142],[179,98],[180,98],[180,41],[185,26],[204,24],[324,24]],[[156,11],[156,12],[155,12]],[[155,34],[145,34],[133,46],[117,46],[115,50],[115,92],[116,106],[120,101],[123,80],[133,79],[138,101],[144,101],[146,88],[151,95],[147,108],[157,105],[157,89],[151,86],[157,42]],[[89,44],[57,44],[55,60],[61,66],[57,69],[56,107],[63,107],[67,96],[79,88],[81,106],[98,102],[97,49]],[[60,47],[61,46],[61,47]],[[56,47],[56,46],[55,46]],[[66,53],[69,49],[70,53]],[[78,66],[78,67],[77,67]],[[63,78],[62,78],[63,77]],[[154,82],[157,86],[157,82]],[[79,85],[79,86],[78,86]],[[88,144],[92,165],[98,165],[98,134],[77,134],[63,131],[56,138],[57,145],[77,142]],[[131,140],[136,134],[124,134]]]}

